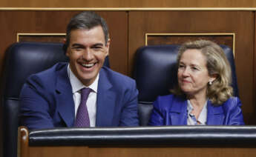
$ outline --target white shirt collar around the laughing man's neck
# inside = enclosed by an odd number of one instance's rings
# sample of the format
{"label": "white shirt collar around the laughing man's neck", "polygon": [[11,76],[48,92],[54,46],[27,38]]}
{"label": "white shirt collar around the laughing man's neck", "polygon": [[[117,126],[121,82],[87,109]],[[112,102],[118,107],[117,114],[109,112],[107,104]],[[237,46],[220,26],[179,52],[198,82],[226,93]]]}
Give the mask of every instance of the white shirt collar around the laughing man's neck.
{"label": "white shirt collar around the laughing man's neck", "polygon": [[[72,70],[70,69],[70,64],[68,64],[68,77],[70,79],[70,84],[72,87],[72,93],[76,93],[79,90],[81,90],[82,88],[86,87],[84,84],[82,84],[82,82],[77,79],[77,77],[73,74]],[[98,90],[98,83],[99,83],[99,73],[96,76],[96,79],[93,81],[93,83],[88,86],[89,88],[91,88],[91,90],[93,90],[93,92],[97,93]]]}

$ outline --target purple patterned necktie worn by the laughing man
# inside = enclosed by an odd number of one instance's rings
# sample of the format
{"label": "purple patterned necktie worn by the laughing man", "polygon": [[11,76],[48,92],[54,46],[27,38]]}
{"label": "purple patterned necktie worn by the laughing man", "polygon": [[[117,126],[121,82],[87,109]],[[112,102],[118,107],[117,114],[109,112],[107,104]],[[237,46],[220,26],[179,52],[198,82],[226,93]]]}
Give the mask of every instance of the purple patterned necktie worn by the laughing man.
{"label": "purple patterned necktie worn by the laughing man", "polygon": [[86,105],[89,93],[91,93],[91,88],[82,88],[81,102],[76,113],[75,127],[90,127],[90,118]]}

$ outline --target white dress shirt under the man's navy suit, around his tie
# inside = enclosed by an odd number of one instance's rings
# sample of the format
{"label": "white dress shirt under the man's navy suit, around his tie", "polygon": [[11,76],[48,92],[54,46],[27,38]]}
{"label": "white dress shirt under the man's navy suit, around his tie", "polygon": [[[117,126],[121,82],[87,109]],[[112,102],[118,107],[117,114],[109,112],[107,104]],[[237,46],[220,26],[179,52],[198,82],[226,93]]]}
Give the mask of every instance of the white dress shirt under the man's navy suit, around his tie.
{"label": "white dress shirt under the man's navy suit, around his tie", "polygon": [[[80,90],[86,86],[82,84],[82,82],[79,81],[79,79],[76,78],[72,70],[70,70],[69,64],[68,64],[68,77],[70,79],[70,83],[72,87],[73,101],[75,104],[75,117],[76,117],[76,113],[81,101]],[[90,127],[95,127],[95,124],[96,124],[96,98],[97,98],[98,83],[99,83],[99,73],[96,76],[96,79],[93,81],[93,83],[89,86],[89,88],[91,88],[91,90],[93,91],[89,94],[86,102],[89,118],[90,118]]]}

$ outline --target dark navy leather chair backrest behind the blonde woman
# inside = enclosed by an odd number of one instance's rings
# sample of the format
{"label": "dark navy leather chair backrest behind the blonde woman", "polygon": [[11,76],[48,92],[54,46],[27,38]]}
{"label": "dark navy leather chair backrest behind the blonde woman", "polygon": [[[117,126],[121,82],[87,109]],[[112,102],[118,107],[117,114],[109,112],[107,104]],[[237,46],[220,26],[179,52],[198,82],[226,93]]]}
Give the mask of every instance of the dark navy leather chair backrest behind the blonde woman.
{"label": "dark navy leather chair backrest behind the blonde woman", "polygon": [[[235,73],[232,50],[220,45],[232,67],[232,87],[238,96],[237,76]],[[154,45],[137,50],[133,77],[139,90],[140,124],[147,125],[157,96],[169,94],[169,89],[177,84],[177,53],[180,45]]]}

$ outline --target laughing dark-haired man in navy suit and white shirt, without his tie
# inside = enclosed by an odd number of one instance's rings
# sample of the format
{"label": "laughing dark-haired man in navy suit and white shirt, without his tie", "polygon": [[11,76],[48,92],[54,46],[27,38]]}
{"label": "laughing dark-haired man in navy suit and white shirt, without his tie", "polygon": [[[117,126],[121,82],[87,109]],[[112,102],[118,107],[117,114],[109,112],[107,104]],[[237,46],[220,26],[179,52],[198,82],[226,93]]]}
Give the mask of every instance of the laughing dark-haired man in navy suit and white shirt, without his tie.
{"label": "laughing dark-haired man in navy suit and white shirt, without his tie", "polygon": [[70,61],[27,79],[20,95],[21,124],[29,129],[76,127],[81,89],[87,87],[90,127],[137,126],[135,81],[102,67],[109,45],[104,19],[93,12],[74,16],[64,48]]}

